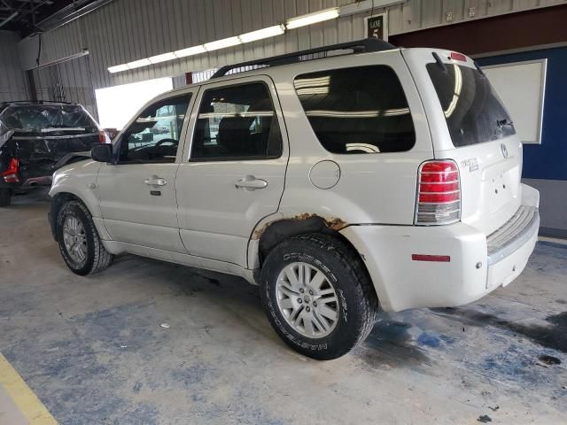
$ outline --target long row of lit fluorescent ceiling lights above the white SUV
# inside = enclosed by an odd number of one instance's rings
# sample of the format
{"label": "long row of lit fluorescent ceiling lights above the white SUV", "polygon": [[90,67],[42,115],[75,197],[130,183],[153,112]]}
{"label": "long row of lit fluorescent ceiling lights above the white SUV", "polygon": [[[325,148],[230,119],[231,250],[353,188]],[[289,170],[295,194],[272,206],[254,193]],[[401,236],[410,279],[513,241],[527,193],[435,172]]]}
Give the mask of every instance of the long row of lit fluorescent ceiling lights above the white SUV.
{"label": "long row of lit fluorescent ceiling lights above the white SUV", "polygon": [[206,42],[198,46],[188,47],[187,49],[175,50],[160,55],[152,56],[151,58],[144,58],[128,62],[127,64],[110,66],[109,73],[121,73],[130,69],[136,69],[142,66],[150,66],[175,60],[178,58],[187,58],[189,56],[199,55],[207,51],[214,51],[226,49],[237,45],[245,44],[247,42],[257,42],[266,38],[283,35],[286,30],[295,29],[299,27],[307,27],[309,25],[324,22],[330,19],[337,19],[339,16],[350,16],[356,13],[368,12],[370,10],[392,6],[393,4],[404,3],[406,0],[362,0],[353,4],[346,4],[341,7],[332,7],[324,9],[315,13],[308,13],[307,15],[296,16],[295,18],[287,19],[285,25],[275,25],[273,27],[266,27],[250,33],[236,35],[234,37],[223,38],[214,42]]}

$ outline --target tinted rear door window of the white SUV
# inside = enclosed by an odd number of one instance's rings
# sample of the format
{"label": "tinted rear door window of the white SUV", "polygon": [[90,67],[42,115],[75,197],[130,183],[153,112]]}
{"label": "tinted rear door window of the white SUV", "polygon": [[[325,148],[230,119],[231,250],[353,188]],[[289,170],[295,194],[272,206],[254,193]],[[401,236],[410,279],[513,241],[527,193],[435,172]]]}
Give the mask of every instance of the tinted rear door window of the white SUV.
{"label": "tinted rear door window of the white SUV", "polygon": [[191,160],[265,159],[282,155],[282,135],[261,82],[206,90]]}

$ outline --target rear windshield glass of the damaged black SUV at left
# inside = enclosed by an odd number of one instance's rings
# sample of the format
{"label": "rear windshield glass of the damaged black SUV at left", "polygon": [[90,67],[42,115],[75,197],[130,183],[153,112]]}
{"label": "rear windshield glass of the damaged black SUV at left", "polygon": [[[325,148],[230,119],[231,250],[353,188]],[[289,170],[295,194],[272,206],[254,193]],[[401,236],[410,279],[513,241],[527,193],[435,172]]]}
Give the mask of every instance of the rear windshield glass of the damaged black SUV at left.
{"label": "rear windshield glass of the damaged black SUV at left", "polygon": [[75,104],[11,105],[1,120],[7,128],[27,132],[97,131],[97,123],[89,113]]}

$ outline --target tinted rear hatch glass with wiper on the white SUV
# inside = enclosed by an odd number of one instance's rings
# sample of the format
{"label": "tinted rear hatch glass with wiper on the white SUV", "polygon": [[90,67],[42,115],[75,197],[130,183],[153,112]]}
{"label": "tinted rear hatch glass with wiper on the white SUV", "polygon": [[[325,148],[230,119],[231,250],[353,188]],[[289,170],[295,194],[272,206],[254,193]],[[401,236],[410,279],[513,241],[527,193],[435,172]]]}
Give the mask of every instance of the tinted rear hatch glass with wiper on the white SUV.
{"label": "tinted rear hatch glass with wiper on the white SUV", "polygon": [[455,147],[490,142],[516,129],[483,73],[468,66],[427,64]]}

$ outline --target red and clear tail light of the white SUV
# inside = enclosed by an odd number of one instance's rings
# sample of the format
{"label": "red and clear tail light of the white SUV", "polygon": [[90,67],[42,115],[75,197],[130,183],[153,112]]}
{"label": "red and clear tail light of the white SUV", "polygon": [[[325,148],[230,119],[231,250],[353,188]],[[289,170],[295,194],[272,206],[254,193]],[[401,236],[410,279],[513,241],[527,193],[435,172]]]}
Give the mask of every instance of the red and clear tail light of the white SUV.
{"label": "red and clear tail light of the white SUV", "polygon": [[416,224],[450,224],[461,220],[459,169],[452,160],[431,160],[419,167]]}

